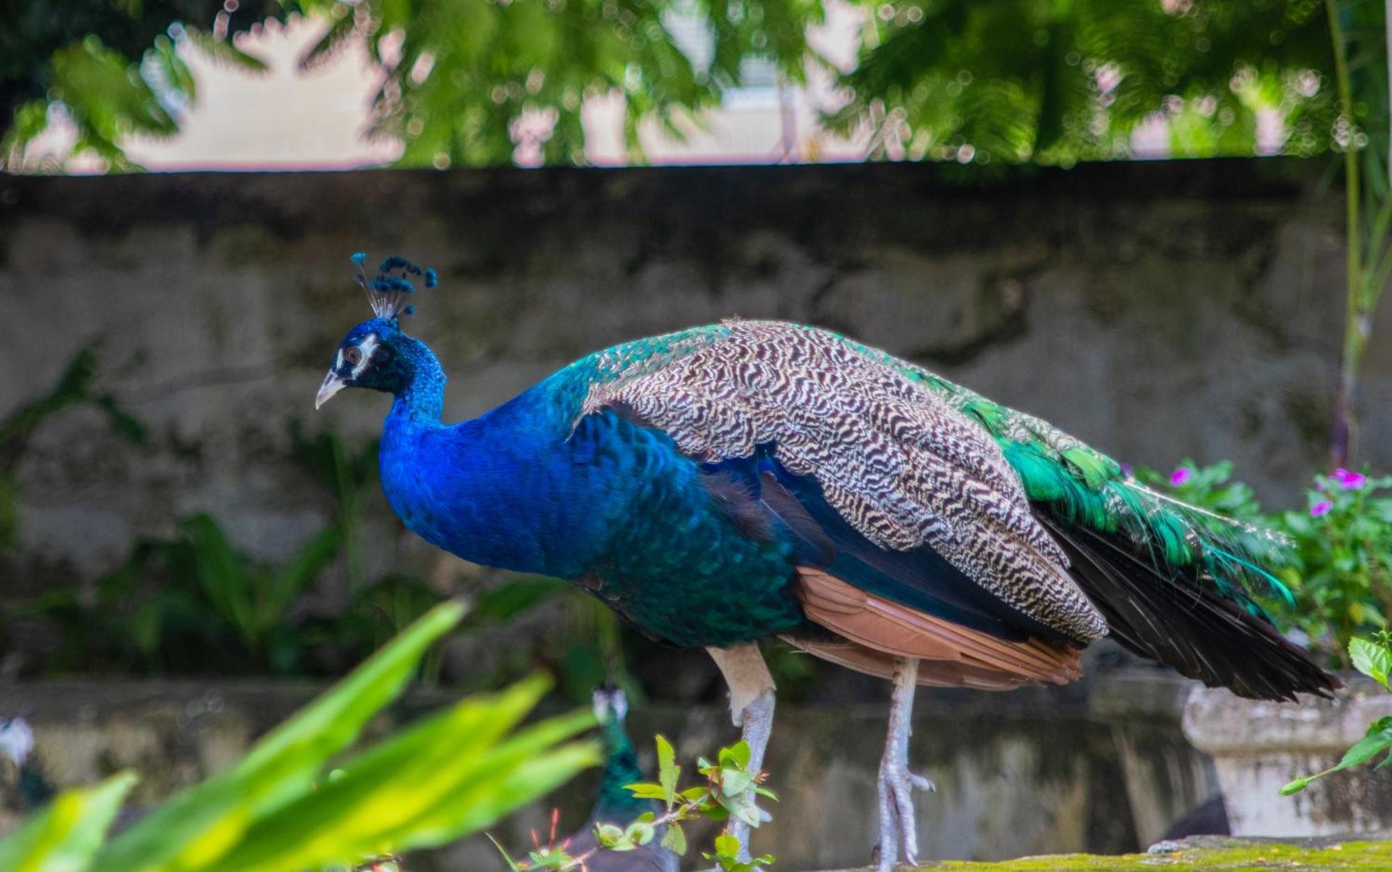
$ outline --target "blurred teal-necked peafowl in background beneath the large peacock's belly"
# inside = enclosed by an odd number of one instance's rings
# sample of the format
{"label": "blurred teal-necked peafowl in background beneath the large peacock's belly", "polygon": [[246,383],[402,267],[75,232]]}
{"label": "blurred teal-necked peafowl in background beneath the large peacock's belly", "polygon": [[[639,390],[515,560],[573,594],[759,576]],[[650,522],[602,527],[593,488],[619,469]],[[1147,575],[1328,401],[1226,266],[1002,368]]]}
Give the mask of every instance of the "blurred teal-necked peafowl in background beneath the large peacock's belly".
{"label": "blurred teal-necked peafowl in background beneath the large peacock's belly", "polygon": [[677,854],[661,846],[665,827],[658,827],[657,834],[647,844],[632,851],[599,850],[599,840],[594,837],[594,827],[600,823],[612,823],[626,827],[644,812],[661,815],[663,807],[654,800],[639,800],[628,784],[649,781],[643,770],[638,766],[638,754],[633,742],[624,729],[624,716],[628,715],[628,701],[624,691],[618,688],[594,690],[594,716],[604,730],[604,774],[600,776],[599,797],[594,801],[594,811],[579,833],[572,836],[565,852],[571,857],[593,855],[585,861],[586,872],[677,872]]}

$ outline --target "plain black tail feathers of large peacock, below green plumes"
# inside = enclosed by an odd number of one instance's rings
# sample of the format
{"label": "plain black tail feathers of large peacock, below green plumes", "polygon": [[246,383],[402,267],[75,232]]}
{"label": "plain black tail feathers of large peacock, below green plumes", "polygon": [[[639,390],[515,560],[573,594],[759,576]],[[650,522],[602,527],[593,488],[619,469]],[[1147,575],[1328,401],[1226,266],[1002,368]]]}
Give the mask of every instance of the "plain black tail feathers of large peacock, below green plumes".
{"label": "plain black tail feathers of large peacock, below green plumes", "polygon": [[1329,696],[1339,687],[1264,617],[1197,581],[1161,574],[1105,534],[1043,520],[1068,552],[1077,584],[1107,618],[1111,637],[1128,651],[1253,699]]}

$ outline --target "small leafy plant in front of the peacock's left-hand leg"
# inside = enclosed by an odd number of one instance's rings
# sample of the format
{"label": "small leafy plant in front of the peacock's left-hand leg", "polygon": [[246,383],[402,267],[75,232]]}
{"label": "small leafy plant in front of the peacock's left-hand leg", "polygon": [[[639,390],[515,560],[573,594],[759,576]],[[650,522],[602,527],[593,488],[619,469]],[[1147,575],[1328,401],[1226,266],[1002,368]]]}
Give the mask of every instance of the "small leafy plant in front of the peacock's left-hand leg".
{"label": "small leafy plant in front of the peacock's left-hand leg", "polygon": [[[682,768],[677,765],[677,754],[672,744],[665,737],[656,737],[657,742],[657,783],[629,784],[628,790],[640,800],[657,800],[665,805],[660,815],[644,812],[632,823],[618,826],[614,823],[599,823],[594,827],[599,847],[593,851],[572,857],[565,851],[565,846],[555,844],[555,820],[553,819],[553,833],[550,844],[537,847],[528,854],[525,861],[514,861],[503,851],[508,868],[514,872],[529,872],[535,869],[558,869],[562,872],[582,871],[586,862],[599,851],[636,851],[650,844],[661,833],[661,846],[678,857],[685,857],[688,844],[686,833],[682,830],[683,820],[695,818],[709,818],[711,820],[725,820],[731,816],[743,820],[752,827],[768,820],[767,812],[754,805],[754,797],[767,797],[777,801],[771,790],[763,786],[767,777],[763,772],[749,769],[749,744],[739,741],[728,748],[721,748],[715,763],[702,758],[696,763],[697,772],[704,776],[704,784],[682,788],[678,784]],[[768,854],[749,861],[739,859],[739,843],[728,834],[715,837],[711,852],[702,857],[715,864],[721,872],[753,872],[761,866],[771,866],[774,858]]]}

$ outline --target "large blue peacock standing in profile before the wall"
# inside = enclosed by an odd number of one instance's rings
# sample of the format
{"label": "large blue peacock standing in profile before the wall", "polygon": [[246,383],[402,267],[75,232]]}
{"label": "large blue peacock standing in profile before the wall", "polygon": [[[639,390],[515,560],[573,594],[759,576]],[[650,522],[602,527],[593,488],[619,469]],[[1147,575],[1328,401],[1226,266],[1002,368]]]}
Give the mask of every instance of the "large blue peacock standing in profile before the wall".
{"label": "large blue peacock standing in profile before the wall", "polygon": [[[355,255],[373,315],[316,408],[394,397],[381,486],[465,560],[569,579],[642,632],[704,648],[763,765],[760,642],[889,680],[878,868],[913,862],[917,685],[1066,684],[1102,637],[1208,685],[1293,701],[1338,681],[1271,624],[1282,540],[1141,486],[1050,423],[845,336],[725,320],[597,351],[441,423],[445,373],[408,336],[433,270]],[[1285,593],[1289,596],[1288,593]],[[749,827],[731,825],[748,851]]]}

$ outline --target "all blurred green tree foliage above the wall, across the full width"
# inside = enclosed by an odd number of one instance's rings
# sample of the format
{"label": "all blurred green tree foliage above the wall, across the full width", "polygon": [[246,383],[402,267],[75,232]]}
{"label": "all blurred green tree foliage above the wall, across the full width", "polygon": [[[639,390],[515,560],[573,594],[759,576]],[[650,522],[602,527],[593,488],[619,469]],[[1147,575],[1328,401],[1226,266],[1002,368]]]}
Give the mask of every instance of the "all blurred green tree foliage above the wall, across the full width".
{"label": "all blurred green tree foliage above the wall, across the full width", "polygon": [[[864,40],[825,123],[870,130],[873,156],[1068,164],[1130,156],[1146,125],[1171,156],[1386,150],[1382,0],[853,1]],[[196,96],[184,43],[256,70],[231,36],[291,13],[327,22],[306,67],[366,45],[384,71],[367,132],[398,138],[406,166],[507,163],[523,139],[546,163],[582,163],[580,106],[606,95],[622,99],[640,159],[639,121],[679,135],[681,117],[741,82],[746,59],[795,84],[824,63],[806,40],[821,0],[0,4],[0,159],[11,160],[56,104],[79,149],[125,166],[122,135],[174,132]],[[1352,113],[1335,86],[1331,14],[1349,46]]]}

